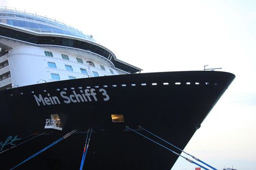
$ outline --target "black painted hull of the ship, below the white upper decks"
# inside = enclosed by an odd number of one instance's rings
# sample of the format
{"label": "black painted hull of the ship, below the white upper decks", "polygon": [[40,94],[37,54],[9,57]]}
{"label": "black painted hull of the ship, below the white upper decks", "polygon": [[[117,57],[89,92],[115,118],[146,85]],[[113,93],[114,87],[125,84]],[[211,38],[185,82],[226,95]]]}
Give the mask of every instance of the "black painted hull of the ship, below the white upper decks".
{"label": "black painted hull of the ship, below the white upper decks", "polygon": [[[74,129],[78,132],[17,170],[79,169],[86,139],[84,132],[92,127],[94,131],[84,170],[170,170],[177,155],[126,131],[125,126],[138,129],[141,125],[183,149],[196,132],[196,126],[205,119],[234,78],[231,73],[218,71],[162,72],[59,81],[1,91],[0,141],[4,142],[8,136],[21,138],[47,132],[47,135],[1,153],[1,169],[16,166]],[[124,84],[126,86],[122,86]],[[92,102],[67,104],[59,95],[61,91],[65,96],[73,95],[74,90],[81,94],[79,91],[87,86],[95,89],[97,101],[91,96]],[[99,89],[106,91],[109,100]],[[50,97],[57,96],[59,103],[43,105],[43,102],[36,102],[34,95],[39,98],[41,94],[44,98],[49,97],[48,93]],[[44,129],[45,119],[50,119],[51,114],[59,114],[62,131]],[[111,114],[123,114],[125,121],[113,123]],[[2,150],[10,147],[6,145]]]}

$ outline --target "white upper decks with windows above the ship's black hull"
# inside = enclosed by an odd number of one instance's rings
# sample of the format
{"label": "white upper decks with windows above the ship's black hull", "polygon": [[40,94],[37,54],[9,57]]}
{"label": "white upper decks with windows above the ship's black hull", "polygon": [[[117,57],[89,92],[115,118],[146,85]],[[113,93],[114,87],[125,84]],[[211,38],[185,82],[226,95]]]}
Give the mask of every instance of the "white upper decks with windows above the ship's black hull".
{"label": "white upper decks with windows above the ship's black hull", "polygon": [[59,80],[129,74],[90,35],[46,17],[0,9],[0,89]]}

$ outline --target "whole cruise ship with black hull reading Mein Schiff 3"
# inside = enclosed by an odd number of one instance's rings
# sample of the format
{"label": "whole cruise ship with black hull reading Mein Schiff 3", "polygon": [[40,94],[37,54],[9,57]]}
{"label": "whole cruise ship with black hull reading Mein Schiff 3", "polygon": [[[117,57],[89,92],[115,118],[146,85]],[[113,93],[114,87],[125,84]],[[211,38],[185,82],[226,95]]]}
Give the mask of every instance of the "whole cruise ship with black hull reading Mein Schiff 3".
{"label": "whole cruise ship with black hull reading Mein Schiff 3", "polygon": [[170,170],[235,75],[141,70],[92,35],[1,8],[0,169]]}

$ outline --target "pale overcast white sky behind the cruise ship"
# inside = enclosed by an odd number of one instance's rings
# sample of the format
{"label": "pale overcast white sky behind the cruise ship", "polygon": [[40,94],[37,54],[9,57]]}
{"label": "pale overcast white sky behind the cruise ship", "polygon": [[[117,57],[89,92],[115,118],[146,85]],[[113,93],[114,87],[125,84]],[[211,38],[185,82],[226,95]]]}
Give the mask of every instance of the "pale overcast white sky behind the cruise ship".
{"label": "pale overcast white sky behind the cruise ship", "polygon": [[[236,75],[185,151],[256,170],[256,0],[1,0],[92,34],[143,72],[222,67]],[[178,159],[172,170],[195,170]]]}

